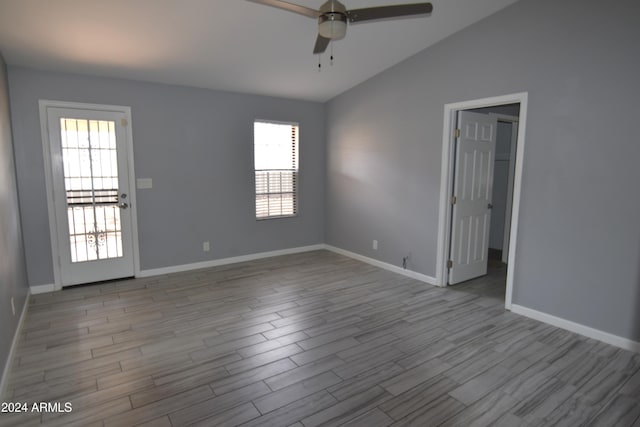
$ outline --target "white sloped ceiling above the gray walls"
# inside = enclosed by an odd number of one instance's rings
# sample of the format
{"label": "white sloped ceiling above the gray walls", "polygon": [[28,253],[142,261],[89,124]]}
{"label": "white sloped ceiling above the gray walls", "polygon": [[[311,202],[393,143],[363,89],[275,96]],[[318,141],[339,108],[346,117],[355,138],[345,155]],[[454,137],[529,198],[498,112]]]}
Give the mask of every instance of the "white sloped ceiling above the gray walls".
{"label": "white sloped ceiling above the gray walls", "polygon": [[432,0],[429,17],[353,24],[318,72],[314,20],[244,0],[0,0],[0,52],[10,65],[326,101],[515,1]]}

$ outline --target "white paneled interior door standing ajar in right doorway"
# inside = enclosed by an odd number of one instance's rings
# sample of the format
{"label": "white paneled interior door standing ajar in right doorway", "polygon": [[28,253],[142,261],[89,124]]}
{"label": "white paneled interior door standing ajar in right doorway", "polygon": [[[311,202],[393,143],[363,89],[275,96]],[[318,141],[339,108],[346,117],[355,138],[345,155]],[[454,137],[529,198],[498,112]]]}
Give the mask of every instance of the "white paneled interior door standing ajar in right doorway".
{"label": "white paneled interior door standing ajar in right doorway", "polygon": [[487,274],[497,119],[458,112],[449,284]]}

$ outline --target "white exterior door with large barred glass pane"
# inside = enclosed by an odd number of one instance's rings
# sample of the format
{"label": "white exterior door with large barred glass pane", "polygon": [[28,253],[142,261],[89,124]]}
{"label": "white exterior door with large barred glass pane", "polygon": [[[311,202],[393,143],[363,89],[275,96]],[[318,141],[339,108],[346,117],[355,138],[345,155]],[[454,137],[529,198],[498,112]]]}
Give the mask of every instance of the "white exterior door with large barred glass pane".
{"label": "white exterior door with large barred glass pane", "polygon": [[61,285],[133,276],[125,113],[47,106],[46,118]]}

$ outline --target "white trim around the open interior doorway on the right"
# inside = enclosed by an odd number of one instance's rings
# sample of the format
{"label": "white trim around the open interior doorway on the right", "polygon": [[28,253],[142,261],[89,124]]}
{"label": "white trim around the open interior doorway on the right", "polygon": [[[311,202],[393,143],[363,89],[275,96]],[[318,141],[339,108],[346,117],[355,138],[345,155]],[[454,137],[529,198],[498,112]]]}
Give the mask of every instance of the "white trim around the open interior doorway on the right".
{"label": "white trim around the open interior doorway on the right", "polygon": [[528,93],[520,92],[491,98],[476,99],[456,102],[444,106],[444,124],[442,132],[442,171],[440,177],[440,211],[438,221],[438,252],[436,260],[436,284],[447,286],[447,261],[451,238],[451,203],[453,180],[453,132],[455,129],[456,112],[473,108],[492,107],[504,104],[520,104],[520,117],[518,123],[518,141],[516,148],[516,169],[513,187],[513,205],[511,210],[511,236],[509,238],[509,260],[507,267],[507,289],[505,295],[505,308],[511,310],[513,296],[513,277],[516,256],[516,243],[518,239],[518,219],[520,218],[520,190],[522,186],[522,165],[524,161],[524,142],[527,125],[527,100]]}

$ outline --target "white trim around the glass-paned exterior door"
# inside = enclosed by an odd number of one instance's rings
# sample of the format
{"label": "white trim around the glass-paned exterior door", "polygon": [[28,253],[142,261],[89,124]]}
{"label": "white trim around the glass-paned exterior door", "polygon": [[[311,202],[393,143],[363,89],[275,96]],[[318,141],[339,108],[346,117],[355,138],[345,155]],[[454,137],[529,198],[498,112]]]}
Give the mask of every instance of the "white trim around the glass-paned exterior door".
{"label": "white trim around the glass-paned exterior door", "polygon": [[62,289],[62,274],[60,269],[60,256],[58,252],[58,233],[55,229],[56,212],[53,200],[53,171],[51,168],[51,141],[49,140],[49,126],[47,119],[48,108],[75,108],[80,110],[112,111],[124,114],[127,120],[125,127],[127,137],[127,161],[129,163],[129,182],[131,191],[129,194],[131,209],[131,233],[133,238],[133,266],[135,276],[140,275],[140,246],[138,243],[138,214],[135,191],[135,170],[133,161],[133,132],[131,130],[131,107],[120,105],[85,104],[78,102],[64,102],[41,99],[40,107],[40,133],[42,135],[42,152],[44,155],[45,186],[47,189],[47,209],[49,214],[49,236],[51,238],[51,254],[53,264],[54,290]]}

